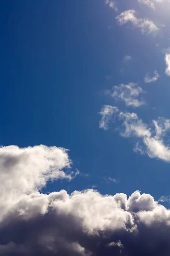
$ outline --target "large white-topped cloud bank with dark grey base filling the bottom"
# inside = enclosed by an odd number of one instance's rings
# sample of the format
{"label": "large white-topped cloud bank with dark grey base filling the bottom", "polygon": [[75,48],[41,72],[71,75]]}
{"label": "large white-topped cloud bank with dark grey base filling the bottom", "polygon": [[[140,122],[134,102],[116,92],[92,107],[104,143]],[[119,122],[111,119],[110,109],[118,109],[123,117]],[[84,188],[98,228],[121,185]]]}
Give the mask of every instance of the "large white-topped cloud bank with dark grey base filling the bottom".
{"label": "large white-topped cloud bank with dark grey base filling the bottom", "polygon": [[39,192],[49,179],[74,177],[70,164],[63,148],[0,148],[0,255],[170,254],[170,210],[151,195]]}

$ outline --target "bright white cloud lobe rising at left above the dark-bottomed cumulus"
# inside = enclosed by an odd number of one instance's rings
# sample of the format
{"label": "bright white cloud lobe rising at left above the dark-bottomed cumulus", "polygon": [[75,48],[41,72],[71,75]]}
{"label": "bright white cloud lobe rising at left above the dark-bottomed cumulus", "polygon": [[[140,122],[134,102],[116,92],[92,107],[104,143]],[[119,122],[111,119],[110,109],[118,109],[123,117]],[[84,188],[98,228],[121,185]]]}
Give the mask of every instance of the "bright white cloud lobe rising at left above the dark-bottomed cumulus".
{"label": "bright white cloud lobe rising at left above the dark-bottomed cumulus", "polygon": [[48,180],[65,178],[71,180],[74,174],[69,171],[70,166],[71,160],[64,148],[44,145],[28,148],[14,145],[1,147],[0,219],[8,209],[8,205],[15,204],[21,199],[20,196],[41,189]]}

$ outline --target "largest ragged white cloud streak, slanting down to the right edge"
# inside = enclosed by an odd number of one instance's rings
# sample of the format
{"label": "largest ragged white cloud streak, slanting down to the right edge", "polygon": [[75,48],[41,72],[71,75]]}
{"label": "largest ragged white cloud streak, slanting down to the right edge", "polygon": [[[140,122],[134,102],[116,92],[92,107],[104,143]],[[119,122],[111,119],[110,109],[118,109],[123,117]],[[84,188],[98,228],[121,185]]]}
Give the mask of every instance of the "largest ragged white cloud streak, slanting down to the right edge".
{"label": "largest ragged white cloud streak, slanting down to the right edge", "polygon": [[[147,154],[151,158],[158,158],[170,162],[170,147],[165,143],[165,136],[170,131],[170,119],[159,118],[153,120],[150,127],[139,119],[136,113],[117,111],[116,116],[122,120],[124,129],[120,131],[122,137],[137,137],[135,151]],[[152,128],[154,126],[154,129]]]}

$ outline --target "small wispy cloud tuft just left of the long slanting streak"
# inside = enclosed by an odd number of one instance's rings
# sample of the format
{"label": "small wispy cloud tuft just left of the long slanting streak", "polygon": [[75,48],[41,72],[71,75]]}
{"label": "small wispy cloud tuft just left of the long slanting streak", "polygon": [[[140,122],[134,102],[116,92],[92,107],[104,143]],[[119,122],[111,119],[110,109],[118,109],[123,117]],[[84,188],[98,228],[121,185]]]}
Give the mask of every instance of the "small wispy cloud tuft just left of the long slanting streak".
{"label": "small wispy cloud tuft just left of the long slanting streak", "polygon": [[104,105],[102,107],[102,110],[100,111],[100,114],[102,115],[102,120],[99,122],[99,128],[103,128],[104,130],[108,129],[108,122],[111,120],[111,116],[113,113],[117,113],[118,108]]}

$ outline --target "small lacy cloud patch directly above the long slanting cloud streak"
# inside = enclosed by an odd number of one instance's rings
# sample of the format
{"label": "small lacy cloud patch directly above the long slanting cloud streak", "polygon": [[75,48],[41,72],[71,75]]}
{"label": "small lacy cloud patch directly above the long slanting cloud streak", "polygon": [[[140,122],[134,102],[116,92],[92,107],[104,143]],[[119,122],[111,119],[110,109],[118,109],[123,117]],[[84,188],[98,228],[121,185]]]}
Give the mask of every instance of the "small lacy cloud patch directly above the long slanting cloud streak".
{"label": "small lacy cloud patch directly above the long slanting cloud streak", "polygon": [[144,101],[137,99],[141,93],[145,93],[141,87],[137,84],[129,83],[114,86],[111,96],[114,99],[122,100],[127,106],[139,107],[145,104]]}

